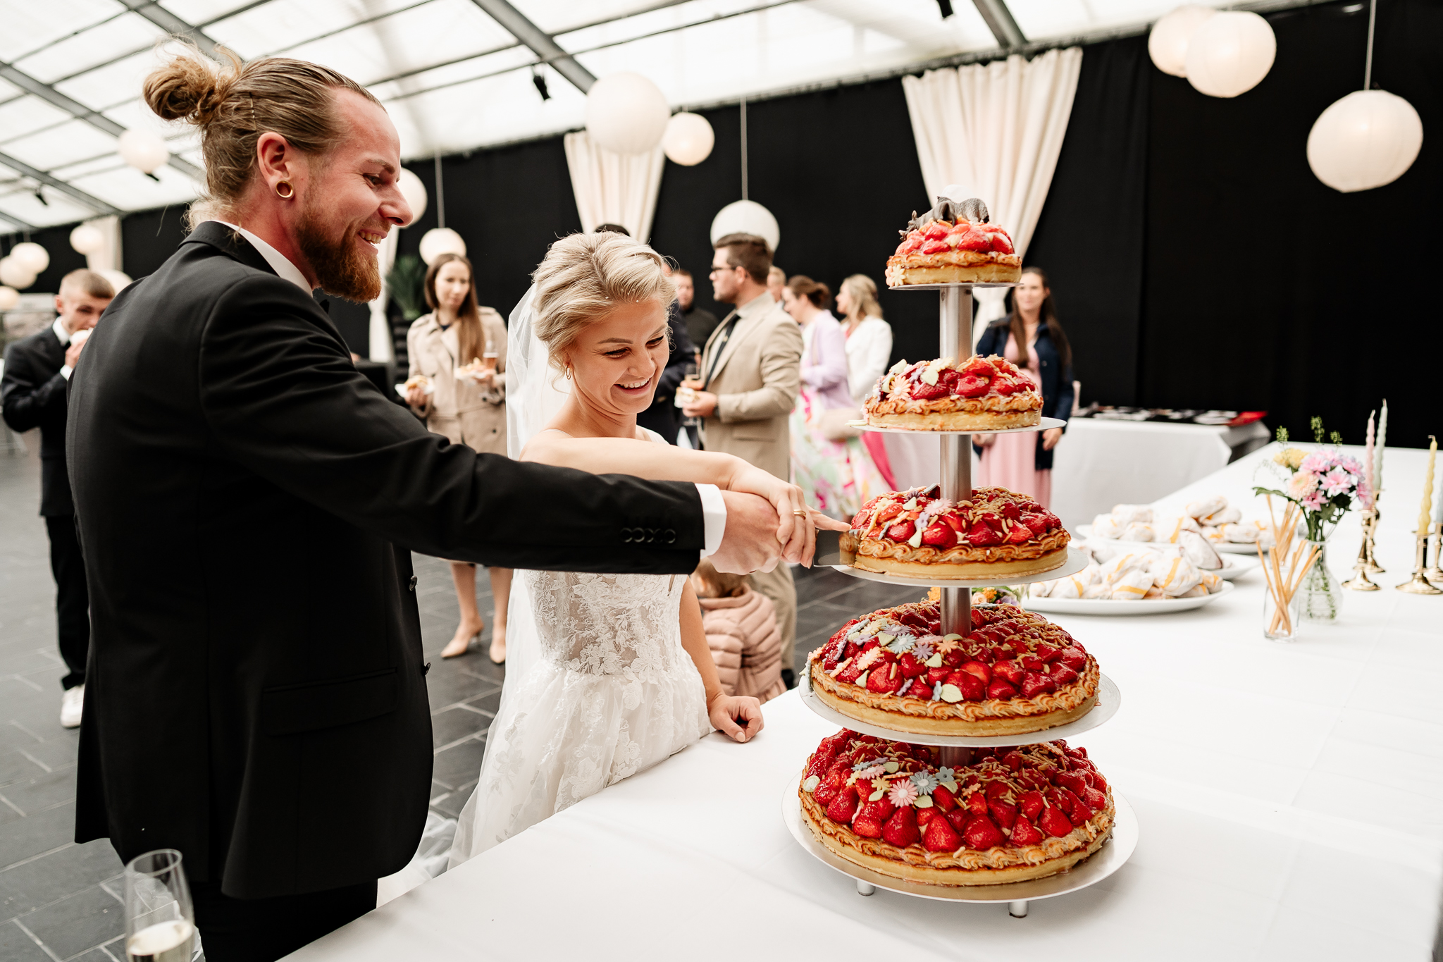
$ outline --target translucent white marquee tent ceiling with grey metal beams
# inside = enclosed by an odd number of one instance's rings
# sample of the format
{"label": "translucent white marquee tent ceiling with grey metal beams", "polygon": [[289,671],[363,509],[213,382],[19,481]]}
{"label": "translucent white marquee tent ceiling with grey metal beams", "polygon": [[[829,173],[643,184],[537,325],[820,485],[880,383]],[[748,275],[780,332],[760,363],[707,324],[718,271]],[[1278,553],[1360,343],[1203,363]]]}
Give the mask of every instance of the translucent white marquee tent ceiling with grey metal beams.
{"label": "translucent white marquee tent ceiling with grey metal beams", "polygon": [[[951,0],[942,19],[938,0],[0,0],[0,232],[195,196],[195,136],[140,101],[167,33],[342,71],[416,159],[577,128],[580,87],[618,71],[696,107],[1143,25],[1176,3]],[[154,177],[115,153],[131,127],[169,141]]]}

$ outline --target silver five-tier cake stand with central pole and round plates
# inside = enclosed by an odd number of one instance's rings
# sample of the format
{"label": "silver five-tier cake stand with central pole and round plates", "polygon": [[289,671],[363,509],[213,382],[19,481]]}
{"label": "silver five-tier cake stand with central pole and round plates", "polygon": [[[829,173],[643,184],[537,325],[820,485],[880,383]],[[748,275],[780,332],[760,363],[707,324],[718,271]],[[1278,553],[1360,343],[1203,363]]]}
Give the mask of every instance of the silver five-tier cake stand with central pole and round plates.
{"label": "silver five-tier cake stand with central pole and round plates", "polygon": [[[899,287],[893,290],[935,290],[939,294],[939,310],[938,310],[938,327],[939,327],[939,342],[941,352],[939,358],[967,358],[973,353],[973,288],[974,287],[1016,287],[1016,284],[909,284],[906,287]],[[951,500],[968,500],[973,496],[973,438],[975,434],[1009,434],[1016,431],[1045,431],[1049,427],[1062,427],[1063,421],[1055,418],[1042,418],[1042,423],[1035,427],[1025,428],[1009,428],[1006,431],[909,431],[896,428],[874,428],[864,424],[857,424],[863,431],[889,431],[898,434],[935,434],[942,443],[942,477],[941,489],[942,498]],[[942,633],[958,633],[970,635],[973,627],[973,588],[980,587],[1000,587],[1009,584],[1025,584],[1030,581],[1048,581],[1052,578],[1061,578],[1068,574],[1075,574],[1087,567],[1087,557],[1076,548],[1068,550],[1068,561],[1061,568],[1053,568],[1043,574],[1030,578],[1001,578],[1001,580],[986,580],[986,578],[952,578],[945,581],[932,581],[926,578],[911,578],[893,574],[877,574],[873,571],[861,571],[853,568],[851,565],[833,565],[837,571],[848,574],[856,578],[866,578],[869,581],[883,581],[890,584],[905,584],[915,587],[939,587],[942,593],[941,601],[941,616],[942,616]],[[889,738],[893,741],[906,741],[911,744],[931,744],[941,747],[942,764],[967,764],[971,760],[971,750],[977,747],[999,747],[999,746],[1016,746],[1016,744],[1033,744],[1038,741],[1053,741],[1056,738],[1071,738],[1076,734],[1095,728],[1111,718],[1118,705],[1121,704],[1121,692],[1117,685],[1113,684],[1107,675],[1102,675],[1098,684],[1097,692],[1097,707],[1092,708],[1082,718],[1066,724],[1058,725],[1055,728],[1046,728],[1043,731],[1033,731],[1029,734],[1017,736],[987,736],[987,737],[967,737],[967,736],[925,736],[915,734],[911,731],[896,731],[885,728],[882,725],[873,725],[863,721],[856,721],[847,715],[833,710],[825,705],[820,698],[817,698],[811,685],[811,671],[802,674],[801,685],[798,685],[802,704],[815,711],[818,715],[827,721],[850,728],[860,734],[870,734],[880,738]],[[1076,891],[1078,888],[1087,888],[1094,886],[1114,871],[1123,867],[1123,864],[1131,857],[1133,850],[1137,848],[1137,818],[1133,815],[1131,806],[1127,803],[1117,789],[1113,789],[1113,802],[1117,809],[1117,815],[1113,822],[1111,838],[1094,852],[1091,857],[1082,862],[1072,867],[1069,871],[1059,873],[1056,875],[1049,875],[1046,878],[1033,878],[1030,881],[1017,881],[1003,886],[928,886],[921,883],[905,881],[902,878],[893,878],[890,875],[883,875],[880,873],[870,871],[861,865],[856,865],[840,855],[833,854],[828,848],[821,845],[812,835],[807,822],[802,819],[801,800],[798,796],[801,777],[792,780],[786,785],[782,793],[782,818],[786,821],[786,828],[792,832],[792,837],[798,844],[807,850],[811,855],[825,862],[828,867],[850,875],[856,880],[857,894],[870,896],[877,888],[886,888],[889,891],[902,893],[906,896],[916,896],[921,899],[937,899],[942,901],[980,901],[980,903],[1007,903],[1007,910],[1014,917],[1025,917],[1027,914],[1027,903],[1033,899],[1051,899],[1053,896],[1062,896],[1069,891]]]}

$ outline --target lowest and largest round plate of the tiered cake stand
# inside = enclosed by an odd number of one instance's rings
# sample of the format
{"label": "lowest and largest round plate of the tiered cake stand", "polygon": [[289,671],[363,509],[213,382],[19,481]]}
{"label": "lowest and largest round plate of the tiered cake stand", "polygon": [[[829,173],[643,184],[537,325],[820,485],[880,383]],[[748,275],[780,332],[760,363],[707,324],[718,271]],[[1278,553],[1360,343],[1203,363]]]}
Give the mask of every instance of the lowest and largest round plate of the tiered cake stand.
{"label": "lowest and largest round plate of the tiered cake stand", "polygon": [[935,899],[938,901],[1006,903],[1007,912],[1013,917],[1022,919],[1026,917],[1027,903],[1033,899],[1055,899],[1069,891],[1095,886],[1121,868],[1137,848],[1137,815],[1133,812],[1133,806],[1127,803],[1127,799],[1114,787],[1113,808],[1117,809],[1117,815],[1113,819],[1113,837],[1068,871],[1048,875],[1046,878],[1012,881],[1003,886],[924,886],[854,865],[818,842],[805,819],[802,819],[802,802],[797,795],[799,787],[801,777],[786,780],[782,789],[782,821],[786,822],[792,838],[797,839],[797,844],[808,855],[812,855],[828,868],[851,877],[857,883],[859,896],[870,896],[877,888],[886,888],[903,896]]}

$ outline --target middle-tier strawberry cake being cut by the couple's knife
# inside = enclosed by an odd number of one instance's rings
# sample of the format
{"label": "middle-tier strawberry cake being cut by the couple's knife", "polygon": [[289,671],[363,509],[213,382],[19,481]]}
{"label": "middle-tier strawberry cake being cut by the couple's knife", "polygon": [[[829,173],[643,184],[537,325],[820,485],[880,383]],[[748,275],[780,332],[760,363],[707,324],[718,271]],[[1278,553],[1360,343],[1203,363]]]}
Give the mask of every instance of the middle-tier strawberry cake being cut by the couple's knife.
{"label": "middle-tier strawberry cake being cut by the couple's knife", "polygon": [[840,538],[841,562],[918,578],[1029,577],[1068,560],[1071,535],[1051,511],[1006,487],[948,500],[934,485],[877,495]]}

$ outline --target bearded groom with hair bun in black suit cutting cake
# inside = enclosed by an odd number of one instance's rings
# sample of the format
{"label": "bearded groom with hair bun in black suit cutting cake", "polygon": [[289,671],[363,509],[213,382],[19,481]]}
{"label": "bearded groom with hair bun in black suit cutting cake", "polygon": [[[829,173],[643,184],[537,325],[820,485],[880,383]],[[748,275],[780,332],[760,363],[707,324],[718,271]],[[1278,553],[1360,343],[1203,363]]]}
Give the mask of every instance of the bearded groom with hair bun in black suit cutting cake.
{"label": "bearded groom with hair bun in black suit cutting cake", "polygon": [[211,962],[276,959],[374,907],[424,826],[411,550],[684,574],[716,547],[749,570],[776,562],[779,519],[478,454],[356,372],[312,288],[374,297],[375,244],[411,212],[354,81],[268,59],[218,82],[189,50],[146,98],[201,127],[215,219],[121,291],[71,385],[92,612],[75,838],[180,850]]}

